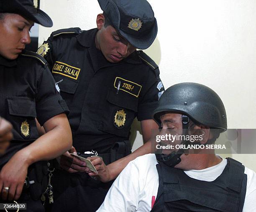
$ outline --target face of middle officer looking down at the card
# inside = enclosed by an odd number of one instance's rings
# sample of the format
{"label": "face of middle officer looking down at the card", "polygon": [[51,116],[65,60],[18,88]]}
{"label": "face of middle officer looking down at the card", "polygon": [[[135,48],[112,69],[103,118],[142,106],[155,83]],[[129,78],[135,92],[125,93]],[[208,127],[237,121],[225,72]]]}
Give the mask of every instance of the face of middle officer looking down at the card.
{"label": "face of middle officer looking down at the card", "polygon": [[105,28],[104,22],[98,23],[98,18],[97,26],[99,31],[95,38],[96,47],[111,63],[120,62],[136,50],[131,43],[117,33],[115,28],[110,25]]}

